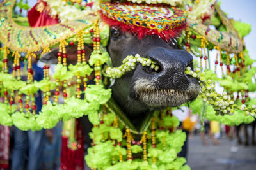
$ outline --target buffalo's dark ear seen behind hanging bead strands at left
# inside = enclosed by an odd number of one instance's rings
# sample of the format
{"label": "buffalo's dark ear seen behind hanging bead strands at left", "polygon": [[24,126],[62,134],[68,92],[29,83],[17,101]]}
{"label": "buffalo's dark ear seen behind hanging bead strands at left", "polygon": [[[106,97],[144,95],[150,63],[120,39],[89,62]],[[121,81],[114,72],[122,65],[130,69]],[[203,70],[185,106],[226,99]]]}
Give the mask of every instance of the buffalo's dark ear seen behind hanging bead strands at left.
{"label": "buffalo's dark ear seen behind hanging bead strands at left", "polygon": [[[85,50],[85,58],[86,62],[92,53],[92,49],[88,46],[84,46]],[[57,64],[58,63],[58,52],[59,48],[54,48],[51,52],[46,53],[40,60],[46,64]],[[66,53],[67,53],[67,65],[69,64],[76,64],[77,62],[77,45],[74,46],[66,46]]]}

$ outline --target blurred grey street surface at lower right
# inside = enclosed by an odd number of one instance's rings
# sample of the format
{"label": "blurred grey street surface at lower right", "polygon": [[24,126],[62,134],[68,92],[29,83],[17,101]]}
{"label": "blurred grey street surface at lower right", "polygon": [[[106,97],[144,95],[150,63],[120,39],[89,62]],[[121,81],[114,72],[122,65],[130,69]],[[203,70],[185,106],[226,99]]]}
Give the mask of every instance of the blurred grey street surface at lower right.
{"label": "blurred grey street surface at lower right", "polygon": [[238,145],[236,138],[227,139],[225,134],[219,141],[220,145],[214,146],[207,138],[204,146],[199,134],[189,138],[188,165],[192,170],[256,169],[255,145]]}

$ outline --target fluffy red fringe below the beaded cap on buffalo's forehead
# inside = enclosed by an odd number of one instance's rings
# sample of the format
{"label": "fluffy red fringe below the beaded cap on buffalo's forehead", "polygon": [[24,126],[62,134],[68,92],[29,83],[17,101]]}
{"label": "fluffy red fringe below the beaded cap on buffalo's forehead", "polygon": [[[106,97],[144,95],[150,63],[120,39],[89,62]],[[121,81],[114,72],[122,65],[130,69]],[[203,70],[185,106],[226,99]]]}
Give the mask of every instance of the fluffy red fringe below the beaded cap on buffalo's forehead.
{"label": "fluffy red fringe below the beaded cap on buffalo's forehead", "polygon": [[180,32],[186,28],[186,24],[181,25],[180,27],[175,27],[175,29],[172,30],[164,30],[161,32],[158,32],[157,29],[148,29],[144,27],[138,27],[136,25],[127,25],[122,22],[118,22],[116,20],[112,20],[102,14],[102,11],[99,11],[101,18],[106,24],[109,26],[118,25],[122,29],[123,32],[130,32],[131,34],[134,34],[134,36],[137,36],[139,39],[142,39],[145,36],[148,35],[157,35],[161,39],[163,39],[166,42],[169,42],[170,39],[175,38],[180,35]]}

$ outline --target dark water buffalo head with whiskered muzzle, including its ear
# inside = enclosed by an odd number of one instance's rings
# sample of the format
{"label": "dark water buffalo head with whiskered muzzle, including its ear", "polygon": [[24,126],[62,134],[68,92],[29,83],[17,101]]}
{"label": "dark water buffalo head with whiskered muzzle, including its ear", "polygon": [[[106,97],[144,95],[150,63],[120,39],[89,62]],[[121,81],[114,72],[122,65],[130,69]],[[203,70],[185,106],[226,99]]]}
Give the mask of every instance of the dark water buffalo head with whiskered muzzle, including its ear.
{"label": "dark water buffalo head with whiskered muzzle, including its ear", "polygon": [[[193,57],[186,50],[177,49],[175,39],[170,43],[156,35],[138,39],[129,32],[122,32],[112,26],[109,33],[107,50],[114,67],[122,64],[127,55],[147,57],[159,66],[155,71],[150,67],[137,64],[136,69],[113,85],[113,98],[132,120],[139,115],[147,115],[150,108],[179,106],[196,98],[199,92],[198,81],[184,74],[187,66],[193,68]],[[42,62],[57,63],[58,50],[41,58]],[[86,46],[86,55],[92,50]],[[67,48],[67,62],[74,64],[76,47]]]}

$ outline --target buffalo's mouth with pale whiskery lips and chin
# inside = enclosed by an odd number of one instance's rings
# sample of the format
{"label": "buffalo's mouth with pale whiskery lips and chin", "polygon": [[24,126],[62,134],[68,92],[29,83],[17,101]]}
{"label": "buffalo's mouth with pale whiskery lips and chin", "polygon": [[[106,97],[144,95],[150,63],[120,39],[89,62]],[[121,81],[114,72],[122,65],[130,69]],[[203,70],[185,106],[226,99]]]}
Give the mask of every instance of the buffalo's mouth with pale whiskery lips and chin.
{"label": "buffalo's mouth with pale whiskery lips and chin", "polygon": [[187,76],[189,85],[186,89],[157,89],[154,82],[141,78],[134,83],[136,98],[150,107],[176,107],[193,101],[199,93],[200,85],[196,78]]}

